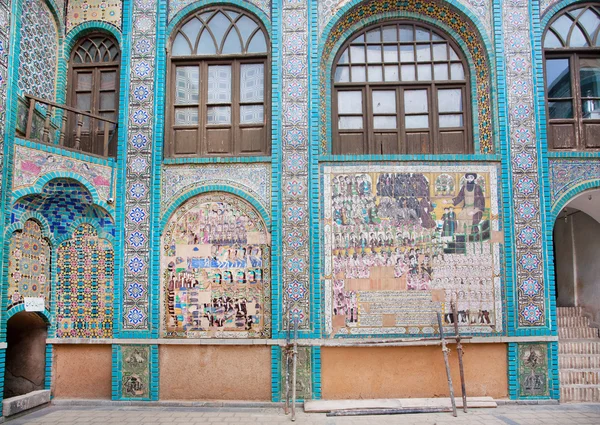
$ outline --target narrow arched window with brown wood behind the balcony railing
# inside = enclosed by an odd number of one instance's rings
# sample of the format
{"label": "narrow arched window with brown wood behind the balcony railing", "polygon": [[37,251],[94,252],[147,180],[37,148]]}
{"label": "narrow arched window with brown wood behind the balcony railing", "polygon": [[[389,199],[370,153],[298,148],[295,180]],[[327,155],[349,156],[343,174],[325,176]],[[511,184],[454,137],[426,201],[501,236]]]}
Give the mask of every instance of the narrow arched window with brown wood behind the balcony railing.
{"label": "narrow arched window with brown wood behind the balcony railing", "polygon": [[[71,51],[68,85],[69,106],[112,121],[117,121],[119,112],[119,64],[121,51],[117,41],[106,34],[94,33],[81,38]],[[77,119],[69,113],[69,137],[66,143],[76,147]],[[83,117],[81,141],[82,151],[104,155],[104,121]],[[115,127],[109,126],[111,139]],[[116,144],[109,147],[114,155]]]}

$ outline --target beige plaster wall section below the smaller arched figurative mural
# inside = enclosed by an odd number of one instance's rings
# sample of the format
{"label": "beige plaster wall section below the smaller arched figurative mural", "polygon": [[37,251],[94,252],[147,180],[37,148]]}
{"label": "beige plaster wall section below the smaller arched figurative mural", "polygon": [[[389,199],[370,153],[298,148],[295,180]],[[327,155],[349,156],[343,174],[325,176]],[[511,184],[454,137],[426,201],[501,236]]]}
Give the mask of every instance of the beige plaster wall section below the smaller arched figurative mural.
{"label": "beige plaster wall section below the smaller arched figurative mural", "polygon": [[161,400],[271,400],[271,348],[162,345]]}

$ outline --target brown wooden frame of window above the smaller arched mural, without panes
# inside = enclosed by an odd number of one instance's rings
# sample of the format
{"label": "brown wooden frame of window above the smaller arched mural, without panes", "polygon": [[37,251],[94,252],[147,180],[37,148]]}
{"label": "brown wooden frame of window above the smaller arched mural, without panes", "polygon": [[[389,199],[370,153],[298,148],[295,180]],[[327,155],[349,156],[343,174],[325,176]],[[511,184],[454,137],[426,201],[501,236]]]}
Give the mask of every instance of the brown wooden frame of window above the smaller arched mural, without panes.
{"label": "brown wooden frame of window above the smaller arched mural, without panes", "polygon": [[[242,54],[211,54],[211,55],[189,55],[189,56],[173,56],[172,45],[179,30],[190,20],[197,15],[213,12],[215,10],[231,10],[237,13],[242,13],[252,19],[263,32],[266,43],[266,53],[242,53]],[[208,29],[210,31],[210,29]],[[211,32],[212,33],[212,32]],[[266,156],[271,154],[271,53],[270,39],[266,28],[260,19],[253,16],[251,13],[238,9],[232,6],[224,7],[208,7],[200,9],[191,14],[187,19],[182,20],[177,28],[173,30],[169,38],[169,48],[167,49],[167,94],[166,105],[168,108],[166,124],[166,143],[164,149],[165,158],[214,158],[214,157],[247,157],[247,156]],[[242,102],[240,99],[241,86],[241,65],[244,64],[262,64],[264,71],[264,92],[262,102]],[[198,82],[198,124],[194,126],[181,126],[175,124],[175,92],[176,92],[176,69],[178,66],[198,66],[199,67],[199,82]],[[231,124],[208,124],[207,111],[208,107],[208,67],[211,65],[229,65],[231,66]],[[264,107],[263,122],[241,124],[240,111],[242,105],[261,104]],[[192,104],[189,104],[190,106]],[[219,104],[215,104],[219,105]],[[225,105],[225,104],[220,104]],[[194,106],[196,106],[194,104]],[[177,154],[175,149],[176,130],[189,129],[196,131],[195,152]],[[209,130],[229,129],[231,131],[231,139],[229,140],[229,152],[209,152]],[[252,152],[244,152],[242,150],[242,132],[244,129],[262,129],[264,137],[261,137],[260,146]]]}

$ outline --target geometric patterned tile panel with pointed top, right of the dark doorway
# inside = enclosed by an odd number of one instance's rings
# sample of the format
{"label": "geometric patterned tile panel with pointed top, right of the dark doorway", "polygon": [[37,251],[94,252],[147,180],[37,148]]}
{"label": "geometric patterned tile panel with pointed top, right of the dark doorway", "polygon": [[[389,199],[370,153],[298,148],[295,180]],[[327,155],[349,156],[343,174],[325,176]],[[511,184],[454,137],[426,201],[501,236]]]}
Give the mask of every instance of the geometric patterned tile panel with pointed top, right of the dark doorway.
{"label": "geometric patterned tile panel with pointed top, right of the dark doorway", "polygon": [[58,338],[112,338],[114,258],[112,244],[89,224],[58,246]]}

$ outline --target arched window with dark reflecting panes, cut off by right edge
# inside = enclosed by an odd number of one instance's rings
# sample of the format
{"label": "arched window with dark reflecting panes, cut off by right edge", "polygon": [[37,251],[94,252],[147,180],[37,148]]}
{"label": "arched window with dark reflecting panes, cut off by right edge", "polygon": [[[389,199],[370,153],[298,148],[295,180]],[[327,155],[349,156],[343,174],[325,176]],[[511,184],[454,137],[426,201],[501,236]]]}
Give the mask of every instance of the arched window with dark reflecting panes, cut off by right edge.
{"label": "arched window with dark reflecting panes, cut off by right edge", "polygon": [[600,5],[577,4],[544,34],[550,149],[600,148]]}

